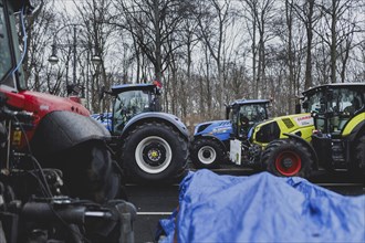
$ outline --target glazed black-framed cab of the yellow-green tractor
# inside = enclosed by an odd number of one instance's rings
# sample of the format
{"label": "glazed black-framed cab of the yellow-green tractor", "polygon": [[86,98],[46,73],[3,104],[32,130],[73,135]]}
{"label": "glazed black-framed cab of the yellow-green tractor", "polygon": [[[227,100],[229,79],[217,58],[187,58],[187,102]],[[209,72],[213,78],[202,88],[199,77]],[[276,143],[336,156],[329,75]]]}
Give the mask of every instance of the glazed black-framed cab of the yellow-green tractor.
{"label": "glazed black-framed cab of the yellow-green tractor", "polygon": [[[353,117],[365,110],[364,84],[328,84],[303,93],[303,108],[322,134],[342,135]],[[365,117],[362,117],[364,120]]]}

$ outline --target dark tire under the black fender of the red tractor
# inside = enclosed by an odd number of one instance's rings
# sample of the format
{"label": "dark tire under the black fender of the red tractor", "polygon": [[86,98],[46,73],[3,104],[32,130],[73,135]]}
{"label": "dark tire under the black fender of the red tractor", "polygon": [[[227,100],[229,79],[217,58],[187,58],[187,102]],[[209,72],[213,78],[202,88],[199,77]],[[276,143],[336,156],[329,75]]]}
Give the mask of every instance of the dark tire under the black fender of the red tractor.
{"label": "dark tire under the black fender of the red tractor", "polygon": [[[65,193],[98,203],[124,196],[122,176],[104,141],[83,142],[55,155],[52,167],[63,172]],[[48,163],[49,166],[49,163]]]}

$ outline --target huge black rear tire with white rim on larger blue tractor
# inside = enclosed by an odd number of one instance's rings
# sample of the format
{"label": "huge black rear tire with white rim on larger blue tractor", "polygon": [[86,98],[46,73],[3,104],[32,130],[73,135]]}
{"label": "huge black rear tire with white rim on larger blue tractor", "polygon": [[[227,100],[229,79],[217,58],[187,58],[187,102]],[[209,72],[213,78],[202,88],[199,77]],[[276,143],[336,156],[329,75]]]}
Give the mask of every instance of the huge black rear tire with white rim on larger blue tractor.
{"label": "huge black rear tire with white rim on larger blue tractor", "polygon": [[127,135],[121,159],[135,182],[168,181],[186,170],[188,142],[170,126],[145,123]]}

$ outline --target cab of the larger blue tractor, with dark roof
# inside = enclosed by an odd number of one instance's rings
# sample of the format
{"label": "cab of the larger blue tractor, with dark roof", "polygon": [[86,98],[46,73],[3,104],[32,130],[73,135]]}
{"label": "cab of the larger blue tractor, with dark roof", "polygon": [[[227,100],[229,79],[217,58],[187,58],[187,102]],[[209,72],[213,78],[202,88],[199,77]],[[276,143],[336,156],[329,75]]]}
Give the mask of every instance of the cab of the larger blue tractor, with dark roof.
{"label": "cab of the larger blue tractor, with dark roof", "polygon": [[114,97],[112,133],[121,134],[125,125],[142,113],[160,112],[158,84],[123,84],[112,87]]}

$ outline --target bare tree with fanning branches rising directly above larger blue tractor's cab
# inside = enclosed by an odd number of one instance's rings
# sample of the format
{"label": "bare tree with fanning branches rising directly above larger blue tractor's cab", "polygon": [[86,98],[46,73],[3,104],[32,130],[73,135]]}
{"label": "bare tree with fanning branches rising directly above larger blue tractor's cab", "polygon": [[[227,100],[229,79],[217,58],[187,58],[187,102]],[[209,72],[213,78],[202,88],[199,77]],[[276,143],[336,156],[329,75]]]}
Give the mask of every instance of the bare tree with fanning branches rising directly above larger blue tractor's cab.
{"label": "bare tree with fanning branches rising directly above larger blue tractor's cab", "polygon": [[178,30],[188,2],[178,0],[131,0],[116,1],[115,8],[124,17],[124,22],[112,24],[127,30],[140,51],[155,68],[155,78],[161,81],[163,72],[171,52],[164,49],[168,38]]}

